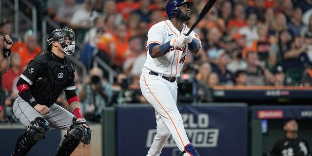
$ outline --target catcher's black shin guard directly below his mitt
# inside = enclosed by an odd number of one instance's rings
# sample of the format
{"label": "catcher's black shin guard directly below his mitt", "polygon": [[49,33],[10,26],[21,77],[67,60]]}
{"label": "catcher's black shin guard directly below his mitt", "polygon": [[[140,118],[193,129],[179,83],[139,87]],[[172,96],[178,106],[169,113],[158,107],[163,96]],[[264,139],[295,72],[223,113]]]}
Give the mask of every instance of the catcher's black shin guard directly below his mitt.
{"label": "catcher's black shin guard directly below his mitt", "polygon": [[65,139],[59,146],[55,156],[70,156],[80,143],[80,140],[76,137],[70,135],[64,135],[64,137]]}

